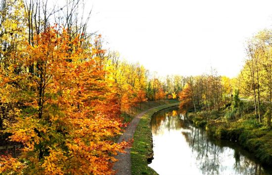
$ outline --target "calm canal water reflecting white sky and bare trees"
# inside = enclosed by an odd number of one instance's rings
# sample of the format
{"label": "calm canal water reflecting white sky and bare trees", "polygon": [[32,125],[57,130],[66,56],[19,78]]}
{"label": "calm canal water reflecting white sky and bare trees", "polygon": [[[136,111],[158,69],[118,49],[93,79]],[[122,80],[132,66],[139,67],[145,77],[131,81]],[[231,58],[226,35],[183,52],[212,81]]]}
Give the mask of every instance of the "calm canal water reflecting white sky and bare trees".
{"label": "calm canal water reflecting white sky and bare trees", "polygon": [[151,119],[154,159],[149,167],[159,175],[272,175],[235,142],[209,138],[178,108]]}

